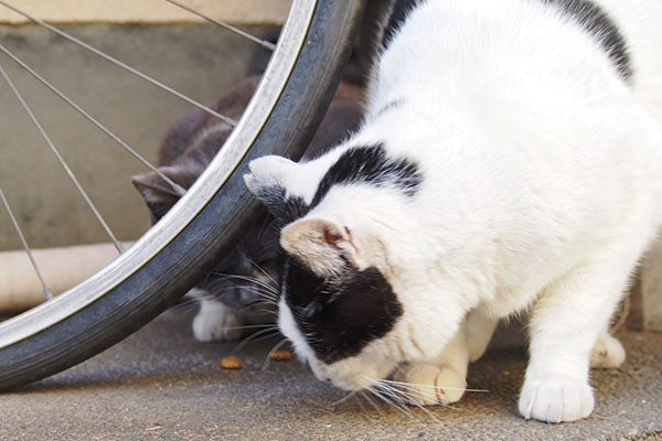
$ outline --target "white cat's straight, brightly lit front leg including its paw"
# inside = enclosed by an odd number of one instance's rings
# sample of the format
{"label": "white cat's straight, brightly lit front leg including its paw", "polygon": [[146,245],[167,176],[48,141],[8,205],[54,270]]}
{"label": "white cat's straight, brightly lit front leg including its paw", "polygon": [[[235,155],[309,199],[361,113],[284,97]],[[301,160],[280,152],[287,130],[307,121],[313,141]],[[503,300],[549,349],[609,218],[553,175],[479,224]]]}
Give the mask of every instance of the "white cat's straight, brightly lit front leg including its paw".
{"label": "white cat's straight, brightly lit front leg including its paw", "polygon": [[549,286],[531,318],[531,359],[520,413],[547,422],[586,418],[594,408],[590,354],[637,262],[637,247],[608,249]]}

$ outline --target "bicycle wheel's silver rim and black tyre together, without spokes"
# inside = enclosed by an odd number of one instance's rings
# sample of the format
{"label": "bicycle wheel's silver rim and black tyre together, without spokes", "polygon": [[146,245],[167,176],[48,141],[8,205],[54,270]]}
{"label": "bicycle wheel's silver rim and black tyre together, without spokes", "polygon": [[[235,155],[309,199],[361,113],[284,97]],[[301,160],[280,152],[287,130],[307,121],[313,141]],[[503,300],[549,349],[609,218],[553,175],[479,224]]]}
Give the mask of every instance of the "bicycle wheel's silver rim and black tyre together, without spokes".
{"label": "bicycle wheel's silver rim and black tyre together, without spokes", "polygon": [[340,78],[363,0],[295,0],[242,120],[181,201],[77,287],[0,323],[0,389],[44,378],[119,342],[188,291],[259,212],[247,163],[298,158]]}

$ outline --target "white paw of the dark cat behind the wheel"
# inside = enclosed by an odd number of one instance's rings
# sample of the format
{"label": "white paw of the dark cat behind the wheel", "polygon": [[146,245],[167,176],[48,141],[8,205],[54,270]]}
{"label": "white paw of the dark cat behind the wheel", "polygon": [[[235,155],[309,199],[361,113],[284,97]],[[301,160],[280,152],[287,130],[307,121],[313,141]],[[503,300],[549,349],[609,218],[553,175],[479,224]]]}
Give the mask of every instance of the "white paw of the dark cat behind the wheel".
{"label": "white paw of the dark cat behind the wheel", "polygon": [[243,334],[243,325],[241,312],[220,302],[203,301],[193,319],[193,335],[200,342],[237,340]]}

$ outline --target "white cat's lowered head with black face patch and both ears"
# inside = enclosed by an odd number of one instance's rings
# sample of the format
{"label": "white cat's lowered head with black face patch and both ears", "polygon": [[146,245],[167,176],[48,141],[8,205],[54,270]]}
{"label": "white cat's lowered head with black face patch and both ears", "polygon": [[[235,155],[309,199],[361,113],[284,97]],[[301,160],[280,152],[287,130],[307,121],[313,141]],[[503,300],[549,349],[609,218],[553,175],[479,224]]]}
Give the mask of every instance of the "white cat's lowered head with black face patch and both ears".
{"label": "white cat's lowered head with black face patch and both ears", "polygon": [[[370,164],[363,165],[362,170],[370,170]],[[296,164],[266,157],[250,164],[245,181],[284,225],[281,332],[319,379],[357,390],[373,386],[403,363],[438,355],[457,330],[461,313],[439,311],[438,303],[426,298],[431,293],[413,295],[416,287],[412,284],[417,282],[407,279],[410,275],[393,259],[397,252],[394,235],[402,233],[380,225],[384,223],[370,218],[365,211],[354,211],[360,203],[349,200],[350,192],[337,198],[344,205],[338,209],[333,204],[316,206],[318,192],[301,185],[306,181],[319,189],[329,173],[316,172],[312,162]],[[363,200],[376,191],[408,197],[386,187],[381,180],[372,186],[356,185],[356,192],[365,192]],[[456,324],[449,326],[448,320]]]}

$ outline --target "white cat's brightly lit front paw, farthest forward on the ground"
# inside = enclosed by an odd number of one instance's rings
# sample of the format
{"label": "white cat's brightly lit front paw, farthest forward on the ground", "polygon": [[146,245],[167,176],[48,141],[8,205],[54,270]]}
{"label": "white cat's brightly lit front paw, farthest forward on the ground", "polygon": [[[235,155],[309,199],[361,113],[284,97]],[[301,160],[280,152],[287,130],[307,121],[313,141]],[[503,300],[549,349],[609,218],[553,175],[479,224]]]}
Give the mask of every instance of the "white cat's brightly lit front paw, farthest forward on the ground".
{"label": "white cat's brightly lit front paw, farthest forward on the ground", "polygon": [[594,395],[587,381],[554,375],[527,379],[520,395],[520,413],[546,422],[576,421],[590,415]]}

